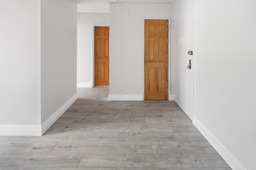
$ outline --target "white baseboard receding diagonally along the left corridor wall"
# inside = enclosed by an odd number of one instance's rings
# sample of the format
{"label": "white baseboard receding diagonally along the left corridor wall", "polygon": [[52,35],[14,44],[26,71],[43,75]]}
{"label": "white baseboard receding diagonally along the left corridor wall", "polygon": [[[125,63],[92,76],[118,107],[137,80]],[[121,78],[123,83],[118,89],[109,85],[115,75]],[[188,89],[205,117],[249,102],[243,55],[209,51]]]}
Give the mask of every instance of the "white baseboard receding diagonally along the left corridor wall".
{"label": "white baseboard receding diagonally along the left corridor wall", "polygon": [[42,123],[42,134],[43,135],[52,124],[78,99],[78,94],[76,93],[72,96],[65,104],[63,104],[58,110],[56,110],[44,123]]}

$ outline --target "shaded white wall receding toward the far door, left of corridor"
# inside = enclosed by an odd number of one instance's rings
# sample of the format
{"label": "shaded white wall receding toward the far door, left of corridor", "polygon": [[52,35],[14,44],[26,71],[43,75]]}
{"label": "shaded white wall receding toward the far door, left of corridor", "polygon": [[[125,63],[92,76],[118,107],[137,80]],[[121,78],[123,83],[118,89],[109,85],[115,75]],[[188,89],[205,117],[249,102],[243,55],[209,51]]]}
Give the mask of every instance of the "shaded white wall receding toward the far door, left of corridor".
{"label": "shaded white wall receding toward the far door, left of corridor", "polygon": [[72,0],[42,0],[42,124],[54,123],[54,119],[65,111],[63,107],[68,107],[67,102],[71,100],[70,104],[76,99],[76,36],[77,4]]}

